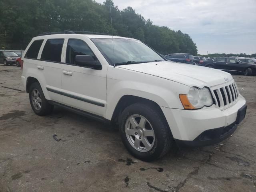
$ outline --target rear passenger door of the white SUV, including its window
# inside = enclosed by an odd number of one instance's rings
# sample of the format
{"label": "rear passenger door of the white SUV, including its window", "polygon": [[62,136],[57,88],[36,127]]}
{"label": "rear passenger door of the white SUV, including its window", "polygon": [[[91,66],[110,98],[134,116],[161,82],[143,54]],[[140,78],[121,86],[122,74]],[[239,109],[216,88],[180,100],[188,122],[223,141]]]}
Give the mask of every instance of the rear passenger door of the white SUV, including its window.
{"label": "rear passenger door of the white SUV, including its window", "polygon": [[50,100],[62,103],[61,90],[61,68],[62,68],[62,48],[64,38],[54,38],[44,40],[40,60],[37,62],[37,70],[42,73],[45,80],[43,88]]}

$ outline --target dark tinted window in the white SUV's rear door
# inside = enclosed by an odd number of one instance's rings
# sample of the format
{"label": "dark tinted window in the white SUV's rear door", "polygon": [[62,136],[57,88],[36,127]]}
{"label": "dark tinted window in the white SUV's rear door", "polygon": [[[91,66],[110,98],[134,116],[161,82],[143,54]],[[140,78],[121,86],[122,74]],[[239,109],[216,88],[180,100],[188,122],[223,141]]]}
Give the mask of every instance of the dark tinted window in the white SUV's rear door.
{"label": "dark tinted window in the white SUV's rear door", "polygon": [[64,39],[48,39],[44,45],[41,60],[60,62]]}

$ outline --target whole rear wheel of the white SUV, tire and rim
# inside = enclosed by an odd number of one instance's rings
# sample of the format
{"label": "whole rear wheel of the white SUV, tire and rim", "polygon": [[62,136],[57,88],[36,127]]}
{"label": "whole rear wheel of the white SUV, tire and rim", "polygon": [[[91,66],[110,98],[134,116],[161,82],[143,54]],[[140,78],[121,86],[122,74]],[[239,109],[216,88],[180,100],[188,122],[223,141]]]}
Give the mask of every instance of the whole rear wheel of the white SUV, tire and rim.
{"label": "whole rear wheel of the white SUV, tire and rim", "polygon": [[53,105],[49,104],[44,97],[42,88],[38,82],[34,82],[29,88],[30,105],[39,116],[45,116],[52,112]]}

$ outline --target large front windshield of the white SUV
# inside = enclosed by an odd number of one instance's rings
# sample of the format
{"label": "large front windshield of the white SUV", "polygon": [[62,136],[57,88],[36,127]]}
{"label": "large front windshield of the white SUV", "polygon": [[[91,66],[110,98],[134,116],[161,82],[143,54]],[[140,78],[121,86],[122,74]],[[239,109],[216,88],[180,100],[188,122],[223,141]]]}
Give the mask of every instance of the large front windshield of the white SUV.
{"label": "large front windshield of the white SUV", "polygon": [[107,38],[92,39],[92,41],[112,65],[165,61],[154,50],[138,40]]}

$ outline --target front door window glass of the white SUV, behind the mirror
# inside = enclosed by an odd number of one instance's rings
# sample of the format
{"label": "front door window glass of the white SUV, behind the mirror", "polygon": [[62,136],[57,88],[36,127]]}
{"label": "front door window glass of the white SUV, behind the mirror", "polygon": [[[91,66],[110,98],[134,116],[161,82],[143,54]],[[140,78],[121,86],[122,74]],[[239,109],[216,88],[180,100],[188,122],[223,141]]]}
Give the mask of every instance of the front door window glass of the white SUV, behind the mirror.
{"label": "front door window glass of the white SUV, behind the mirror", "polygon": [[76,55],[94,56],[93,52],[84,41],[78,39],[70,39],[68,40],[66,63],[74,64]]}

